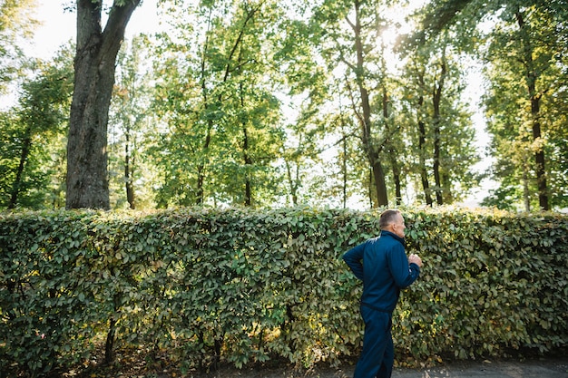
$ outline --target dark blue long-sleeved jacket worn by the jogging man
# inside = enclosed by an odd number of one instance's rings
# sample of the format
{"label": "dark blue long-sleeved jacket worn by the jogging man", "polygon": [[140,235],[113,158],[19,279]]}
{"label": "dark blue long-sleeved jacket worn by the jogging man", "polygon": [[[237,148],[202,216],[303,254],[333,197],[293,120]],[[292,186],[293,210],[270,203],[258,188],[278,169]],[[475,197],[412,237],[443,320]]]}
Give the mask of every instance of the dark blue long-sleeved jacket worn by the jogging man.
{"label": "dark blue long-sleeved jacket worn by the jogging man", "polygon": [[389,231],[353,247],[343,255],[353,274],[363,281],[361,305],[392,313],[400,289],[420,275],[420,267],[408,264],[404,239]]}

